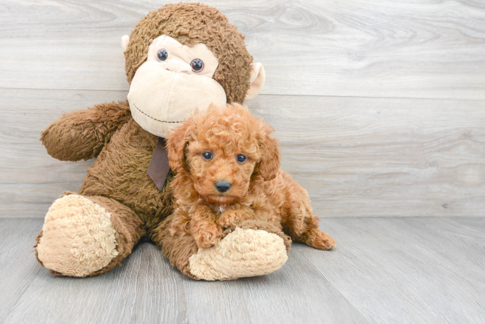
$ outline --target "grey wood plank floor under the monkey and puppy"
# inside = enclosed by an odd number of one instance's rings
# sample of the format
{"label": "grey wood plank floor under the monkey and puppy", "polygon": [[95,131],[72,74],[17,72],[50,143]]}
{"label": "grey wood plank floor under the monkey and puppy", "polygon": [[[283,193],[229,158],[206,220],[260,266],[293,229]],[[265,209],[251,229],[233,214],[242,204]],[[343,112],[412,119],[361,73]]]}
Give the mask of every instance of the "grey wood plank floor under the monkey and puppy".
{"label": "grey wood plank floor under the monkey and puppy", "polygon": [[41,219],[0,219],[0,323],[485,323],[485,218],[334,218],[263,277],[194,281],[152,244],[92,278],[48,274]]}

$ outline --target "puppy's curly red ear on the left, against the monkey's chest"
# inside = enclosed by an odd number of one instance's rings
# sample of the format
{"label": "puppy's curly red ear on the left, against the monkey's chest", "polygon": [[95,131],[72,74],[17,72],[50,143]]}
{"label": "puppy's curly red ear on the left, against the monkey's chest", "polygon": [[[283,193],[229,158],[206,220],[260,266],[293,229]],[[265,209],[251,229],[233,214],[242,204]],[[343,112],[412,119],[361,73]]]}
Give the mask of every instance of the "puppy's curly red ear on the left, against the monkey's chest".
{"label": "puppy's curly red ear on the left, against the monkey's chest", "polygon": [[180,172],[185,165],[185,146],[189,142],[191,120],[180,124],[167,139],[168,164],[175,172]]}

